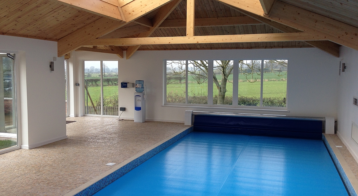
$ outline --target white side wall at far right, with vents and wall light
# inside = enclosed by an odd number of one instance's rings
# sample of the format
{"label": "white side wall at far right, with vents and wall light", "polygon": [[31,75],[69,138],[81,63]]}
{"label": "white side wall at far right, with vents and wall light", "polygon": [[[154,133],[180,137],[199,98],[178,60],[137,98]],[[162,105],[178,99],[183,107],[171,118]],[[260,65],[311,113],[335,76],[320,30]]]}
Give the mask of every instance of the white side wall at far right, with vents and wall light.
{"label": "white side wall at far right, with vents and wall light", "polygon": [[340,58],[347,69],[339,77],[337,135],[358,161],[358,144],[351,138],[352,122],[358,124],[358,107],[353,105],[353,96],[358,97],[358,51],[347,47],[340,49]]}

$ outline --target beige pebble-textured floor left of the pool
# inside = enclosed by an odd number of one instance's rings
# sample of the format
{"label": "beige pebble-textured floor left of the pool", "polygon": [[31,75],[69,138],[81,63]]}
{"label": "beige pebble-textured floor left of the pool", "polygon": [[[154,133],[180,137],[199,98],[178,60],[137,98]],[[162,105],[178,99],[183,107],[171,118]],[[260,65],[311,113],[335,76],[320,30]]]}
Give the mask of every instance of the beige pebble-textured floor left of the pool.
{"label": "beige pebble-textured floor left of the pool", "polygon": [[64,195],[170,135],[184,123],[118,121],[77,117],[66,120],[68,139],[0,154],[0,195]]}

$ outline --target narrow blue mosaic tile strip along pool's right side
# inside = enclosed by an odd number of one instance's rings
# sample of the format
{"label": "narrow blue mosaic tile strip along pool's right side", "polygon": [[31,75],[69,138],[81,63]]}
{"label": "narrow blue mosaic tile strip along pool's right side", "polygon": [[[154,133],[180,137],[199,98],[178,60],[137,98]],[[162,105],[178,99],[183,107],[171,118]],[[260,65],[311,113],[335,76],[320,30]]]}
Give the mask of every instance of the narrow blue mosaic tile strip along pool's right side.
{"label": "narrow blue mosaic tile strip along pool's right side", "polygon": [[339,176],[342,178],[343,184],[344,184],[345,188],[347,189],[348,194],[350,196],[357,196],[357,193],[354,191],[354,188],[353,188],[352,184],[350,183],[347,175],[344,173],[344,170],[343,170],[342,166],[340,165],[337,157],[335,156],[332,148],[330,147],[326,137],[324,137],[323,134],[322,134],[322,140],[323,140],[323,143],[326,145],[326,148],[327,148],[330,156],[332,157],[333,163],[337,168]]}

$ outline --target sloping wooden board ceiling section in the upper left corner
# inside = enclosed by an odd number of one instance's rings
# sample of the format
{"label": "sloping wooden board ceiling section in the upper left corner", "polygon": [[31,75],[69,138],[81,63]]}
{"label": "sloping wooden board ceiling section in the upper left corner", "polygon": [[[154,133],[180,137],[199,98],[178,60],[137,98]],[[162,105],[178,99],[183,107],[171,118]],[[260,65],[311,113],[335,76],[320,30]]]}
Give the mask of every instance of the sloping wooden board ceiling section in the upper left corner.
{"label": "sloping wooden board ceiling section in the upper left corner", "polygon": [[0,33],[61,39],[102,16],[49,0],[0,1]]}

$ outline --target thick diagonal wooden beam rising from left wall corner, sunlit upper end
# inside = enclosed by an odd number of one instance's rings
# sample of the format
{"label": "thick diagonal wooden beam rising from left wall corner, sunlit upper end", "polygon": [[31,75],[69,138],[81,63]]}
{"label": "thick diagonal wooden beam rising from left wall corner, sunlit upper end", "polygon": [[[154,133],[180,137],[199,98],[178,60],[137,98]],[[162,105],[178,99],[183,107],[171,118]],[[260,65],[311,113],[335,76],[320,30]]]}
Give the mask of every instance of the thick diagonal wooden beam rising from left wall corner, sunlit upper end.
{"label": "thick diagonal wooden beam rising from left wall corner, sunlit upper end", "polygon": [[[141,16],[153,11],[156,8],[163,6],[163,3],[168,3],[172,0],[158,0],[152,2],[151,0],[134,0],[130,3],[122,6],[122,10],[126,10],[124,12],[128,17],[125,16],[126,21],[116,21],[108,18],[100,18],[94,21],[91,24],[82,27],[81,29],[76,30],[75,32],[67,35],[66,37],[58,40],[57,45],[57,55],[61,57],[83,45],[85,45],[88,41],[92,39],[96,39],[101,37],[102,35],[106,35],[113,30],[123,27],[126,24],[129,24],[133,20],[140,18]],[[138,9],[131,9],[132,7],[139,6]],[[131,13],[129,13],[131,12]]]}

